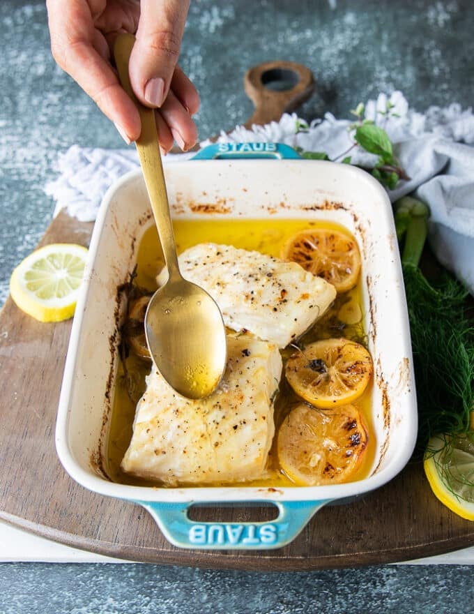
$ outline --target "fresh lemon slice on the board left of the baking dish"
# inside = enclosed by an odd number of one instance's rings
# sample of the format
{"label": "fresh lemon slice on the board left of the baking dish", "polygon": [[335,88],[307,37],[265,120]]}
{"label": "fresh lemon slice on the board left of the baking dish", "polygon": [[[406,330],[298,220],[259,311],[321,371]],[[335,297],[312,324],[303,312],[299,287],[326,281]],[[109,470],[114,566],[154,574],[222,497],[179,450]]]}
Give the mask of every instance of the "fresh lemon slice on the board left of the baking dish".
{"label": "fresh lemon slice on the board left of the baking dish", "polygon": [[21,310],[40,322],[60,322],[74,315],[87,249],[50,244],[31,253],[13,271],[10,294]]}

